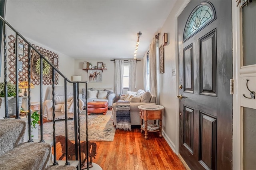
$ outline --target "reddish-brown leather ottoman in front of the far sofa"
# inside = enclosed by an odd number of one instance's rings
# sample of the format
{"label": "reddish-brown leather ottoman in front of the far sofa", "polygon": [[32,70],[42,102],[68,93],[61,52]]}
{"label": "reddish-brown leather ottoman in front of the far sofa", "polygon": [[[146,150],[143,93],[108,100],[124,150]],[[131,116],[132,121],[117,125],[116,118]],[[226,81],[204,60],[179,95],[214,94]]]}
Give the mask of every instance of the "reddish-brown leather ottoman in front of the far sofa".
{"label": "reddish-brown leather ottoman in front of the far sofa", "polygon": [[103,113],[106,115],[108,111],[108,102],[88,102],[87,103],[87,114],[90,113]]}

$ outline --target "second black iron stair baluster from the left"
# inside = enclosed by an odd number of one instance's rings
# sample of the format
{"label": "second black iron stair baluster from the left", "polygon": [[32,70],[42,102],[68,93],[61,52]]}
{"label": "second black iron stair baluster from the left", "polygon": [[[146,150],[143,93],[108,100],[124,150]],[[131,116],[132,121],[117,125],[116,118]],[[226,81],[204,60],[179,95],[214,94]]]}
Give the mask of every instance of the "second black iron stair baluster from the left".
{"label": "second black iron stair baluster from the left", "polygon": [[18,53],[18,44],[19,44],[19,36],[16,33],[15,39],[15,86],[16,86],[16,117],[15,119],[20,119],[20,111],[19,111],[19,70],[18,70],[18,61],[19,61],[19,53]]}

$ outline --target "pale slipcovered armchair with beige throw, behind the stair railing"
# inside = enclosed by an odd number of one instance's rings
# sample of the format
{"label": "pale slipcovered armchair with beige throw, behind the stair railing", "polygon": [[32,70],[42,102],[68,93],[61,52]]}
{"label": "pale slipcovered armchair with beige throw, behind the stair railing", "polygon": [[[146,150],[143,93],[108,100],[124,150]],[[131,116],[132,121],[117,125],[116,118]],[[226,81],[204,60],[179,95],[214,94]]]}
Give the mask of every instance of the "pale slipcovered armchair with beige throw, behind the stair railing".
{"label": "pale slipcovered armchair with beige throw, behind the stair railing", "polygon": [[[55,86],[54,90],[55,100],[55,120],[65,119],[65,92],[64,86]],[[74,118],[73,109],[73,86],[67,86],[67,106],[68,106],[68,119]],[[84,102],[79,99],[80,112],[84,109]],[[47,115],[47,120],[52,120],[52,86],[46,89],[45,101],[43,104],[43,113]]]}

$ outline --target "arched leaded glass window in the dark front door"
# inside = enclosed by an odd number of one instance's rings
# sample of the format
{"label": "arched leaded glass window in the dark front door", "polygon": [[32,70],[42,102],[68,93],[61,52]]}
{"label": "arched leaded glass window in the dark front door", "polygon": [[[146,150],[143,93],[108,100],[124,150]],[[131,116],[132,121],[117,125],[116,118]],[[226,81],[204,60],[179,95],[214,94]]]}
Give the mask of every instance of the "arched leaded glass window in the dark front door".
{"label": "arched leaded glass window in the dark front door", "polygon": [[194,35],[198,30],[202,29],[213,20],[216,14],[212,4],[209,2],[201,2],[191,12],[184,30],[183,41]]}

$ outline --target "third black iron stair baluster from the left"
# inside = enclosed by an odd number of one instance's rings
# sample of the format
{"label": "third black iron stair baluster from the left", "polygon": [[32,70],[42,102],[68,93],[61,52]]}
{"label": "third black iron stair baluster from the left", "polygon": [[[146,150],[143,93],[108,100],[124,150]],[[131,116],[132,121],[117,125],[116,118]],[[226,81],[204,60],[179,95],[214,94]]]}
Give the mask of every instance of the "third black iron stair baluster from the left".
{"label": "third black iron stair baluster from the left", "polygon": [[[33,142],[31,136],[31,110],[30,110],[30,81],[31,81],[31,54],[30,54],[30,44],[28,44],[28,142]],[[42,114],[41,114],[42,115]],[[42,123],[41,123],[42,124]]]}

